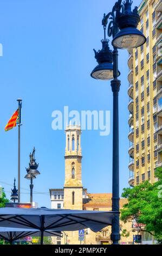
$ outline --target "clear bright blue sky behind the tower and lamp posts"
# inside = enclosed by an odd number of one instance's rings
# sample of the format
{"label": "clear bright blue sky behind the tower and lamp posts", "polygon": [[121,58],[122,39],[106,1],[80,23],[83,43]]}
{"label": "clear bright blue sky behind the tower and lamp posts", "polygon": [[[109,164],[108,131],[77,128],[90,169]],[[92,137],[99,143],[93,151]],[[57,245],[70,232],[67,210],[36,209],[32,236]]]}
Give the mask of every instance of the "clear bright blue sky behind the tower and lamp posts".
{"label": "clear bright blue sky behind the tower and lamp posts", "polygon": [[[133,1],[139,5],[141,1]],[[96,81],[93,48],[101,48],[103,13],[114,0],[7,0],[1,1],[0,57],[1,121],[0,184],[7,196],[17,182],[17,127],[4,127],[22,98],[21,201],[29,202],[29,180],[24,179],[29,153],[36,148],[41,175],[34,180],[34,201],[50,207],[49,188],[64,184],[64,131],[51,129],[51,113],[69,110],[109,110],[112,120],[110,82]],[[121,88],[120,194],[128,186],[128,53],[119,51]],[[82,132],[82,182],[91,193],[112,192],[112,121],[109,136],[99,131]]]}

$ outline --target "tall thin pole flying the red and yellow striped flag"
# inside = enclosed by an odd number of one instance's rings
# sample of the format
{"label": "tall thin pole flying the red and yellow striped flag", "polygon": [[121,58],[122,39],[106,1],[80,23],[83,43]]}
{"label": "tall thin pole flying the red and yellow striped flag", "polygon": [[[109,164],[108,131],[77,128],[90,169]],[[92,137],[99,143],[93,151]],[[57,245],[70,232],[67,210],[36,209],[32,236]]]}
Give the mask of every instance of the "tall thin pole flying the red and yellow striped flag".
{"label": "tall thin pole flying the red and yellow striped flag", "polygon": [[21,107],[22,100],[18,101],[18,203],[20,203],[20,126],[21,126]]}

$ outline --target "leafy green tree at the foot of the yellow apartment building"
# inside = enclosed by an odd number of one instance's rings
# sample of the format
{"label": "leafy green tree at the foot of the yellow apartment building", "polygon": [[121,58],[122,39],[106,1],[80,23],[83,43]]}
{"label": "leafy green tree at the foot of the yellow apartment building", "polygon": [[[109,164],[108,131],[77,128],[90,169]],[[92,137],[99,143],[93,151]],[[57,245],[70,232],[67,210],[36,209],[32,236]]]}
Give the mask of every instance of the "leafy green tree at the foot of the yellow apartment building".
{"label": "leafy green tree at the foot of the yellow apartment building", "polygon": [[[138,228],[147,231],[162,243],[162,168],[157,168],[158,181],[145,181],[133,188],[124,188],[122,197],[128,202],[121,209],[121,220],[136,221]],[[142,225],[141,225],[142,224]]]}

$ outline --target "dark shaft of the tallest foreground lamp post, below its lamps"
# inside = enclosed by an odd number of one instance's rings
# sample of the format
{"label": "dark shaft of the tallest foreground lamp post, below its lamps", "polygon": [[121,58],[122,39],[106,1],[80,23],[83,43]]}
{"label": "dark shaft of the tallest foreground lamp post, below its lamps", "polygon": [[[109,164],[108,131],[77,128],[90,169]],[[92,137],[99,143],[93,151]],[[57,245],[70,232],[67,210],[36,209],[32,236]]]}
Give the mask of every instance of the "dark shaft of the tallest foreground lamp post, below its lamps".
{"label": "dark shaft of the tallest foreground lamp post, below its lamps", "polygon": [[[120,80],[118,80],[118,50],[113,51],[113,77],[111,87],[113,92],[113,184],[112,184],[112,211],[119,212],[119,106],[118,94]],[[120,240],[119,214],[112,220],[111,240],[113,245],[118,245]]]}

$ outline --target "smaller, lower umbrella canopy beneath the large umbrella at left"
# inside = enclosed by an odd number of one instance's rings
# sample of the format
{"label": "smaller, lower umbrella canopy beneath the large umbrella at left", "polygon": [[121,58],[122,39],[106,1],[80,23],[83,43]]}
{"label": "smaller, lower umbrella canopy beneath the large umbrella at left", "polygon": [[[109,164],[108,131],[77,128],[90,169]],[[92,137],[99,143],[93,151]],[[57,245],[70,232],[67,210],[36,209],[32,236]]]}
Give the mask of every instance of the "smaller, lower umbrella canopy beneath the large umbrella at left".
{"label": "smaller, lower umbrella canopy beneath the large umbrella at left", "polygon": [[[30,228],[6,228],[0,227],[0,238],[12,243],[15,240],[22,239],[25,236],[40,236],[41,231],[38,229]],[[44,236],[60,236],[62,237],[61,231],[46,230]]]}

